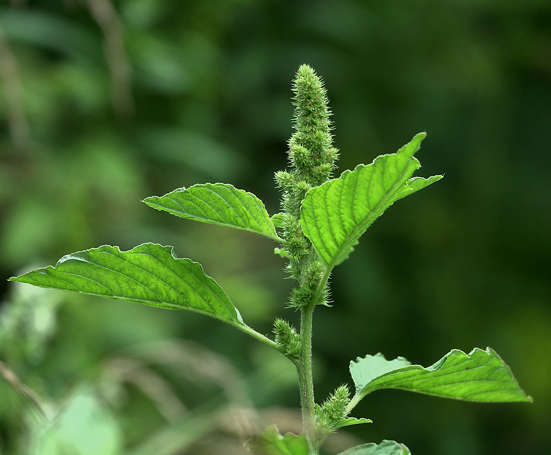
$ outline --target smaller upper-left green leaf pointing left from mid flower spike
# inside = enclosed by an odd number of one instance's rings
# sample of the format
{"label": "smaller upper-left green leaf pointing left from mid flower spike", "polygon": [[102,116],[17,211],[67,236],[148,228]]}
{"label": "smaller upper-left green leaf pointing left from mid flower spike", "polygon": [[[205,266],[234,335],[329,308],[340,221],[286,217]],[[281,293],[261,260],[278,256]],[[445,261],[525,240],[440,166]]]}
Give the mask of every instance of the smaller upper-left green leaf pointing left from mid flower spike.
{"label": "smaller upper-left green leaf pointing left from mid flower spike", "polygon": [[227,183],[205,183],[148,197],[149,207],[203,223],[234,227],[280,241],[266,208],[254,194]]}

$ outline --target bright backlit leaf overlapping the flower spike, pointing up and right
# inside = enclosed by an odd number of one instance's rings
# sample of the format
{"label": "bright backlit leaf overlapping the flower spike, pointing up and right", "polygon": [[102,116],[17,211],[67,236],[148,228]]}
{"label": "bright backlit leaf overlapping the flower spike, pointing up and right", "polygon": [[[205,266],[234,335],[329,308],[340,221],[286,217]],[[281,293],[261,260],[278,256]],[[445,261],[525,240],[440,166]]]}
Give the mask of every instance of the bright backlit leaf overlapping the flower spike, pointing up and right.
{"label": "bright backlit leaf overlapping the flower spike, pointing up and right", "polygon": [[409,178],[420,167],[413,154],[424,137],[425,133],[419,133],[397,153],[379,156],[368,166],[360,164],[353,171],[344,171],[341,177],[306,193],[300,224],[327,266],[341,262],[393,202],[442,178],[440,175]]}

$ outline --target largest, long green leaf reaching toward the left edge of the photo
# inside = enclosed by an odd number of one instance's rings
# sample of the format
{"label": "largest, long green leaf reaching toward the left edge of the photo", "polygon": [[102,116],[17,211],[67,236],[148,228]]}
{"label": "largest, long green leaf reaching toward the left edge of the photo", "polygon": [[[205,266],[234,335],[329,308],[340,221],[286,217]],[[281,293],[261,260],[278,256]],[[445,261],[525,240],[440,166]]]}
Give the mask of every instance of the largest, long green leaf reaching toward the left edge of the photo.
{"label": "largest, long green leaf reaching toward the left edge of the photo", "polygon": [[237,308],[201,264],[179,259],[171,246],[144,243],[130,251],[104,245],[68,254],[55,267],[10,281],[172,309],[191,310],[242,323]]}

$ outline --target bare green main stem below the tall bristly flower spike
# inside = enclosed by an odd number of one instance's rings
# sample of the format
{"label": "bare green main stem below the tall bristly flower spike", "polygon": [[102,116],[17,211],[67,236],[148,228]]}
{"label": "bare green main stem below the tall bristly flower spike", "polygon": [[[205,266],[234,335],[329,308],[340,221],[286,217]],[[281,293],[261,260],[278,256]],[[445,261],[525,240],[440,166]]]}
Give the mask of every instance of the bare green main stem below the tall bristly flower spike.
{"label": "bare green main stem below the tall bristly flower spike", "polygon": [[[312,381],[312,315],[315,305],[301,308],[300,313],[300,355],[297,365],[299,373],[302,424],[310,445],[314,447],[315,402]],[[315,452],[317,453],[317,451]]]}

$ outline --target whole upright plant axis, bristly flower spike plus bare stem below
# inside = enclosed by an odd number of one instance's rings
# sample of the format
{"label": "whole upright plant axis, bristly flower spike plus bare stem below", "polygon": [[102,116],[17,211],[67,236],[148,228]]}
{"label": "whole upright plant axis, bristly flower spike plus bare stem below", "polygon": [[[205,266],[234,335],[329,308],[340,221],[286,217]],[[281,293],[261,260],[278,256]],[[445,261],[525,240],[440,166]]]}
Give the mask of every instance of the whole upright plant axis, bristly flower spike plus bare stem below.
{"label": "whole upright plant axis, bristly flower spike plus bare stem below", "polygon": [[[327,107],[326,90],[315,71],[301,65],[293,81],[295,133],[289,140],[290,170],[276,172],[276,182],[283,190],[282,245],[289,257],[287,271],[298,284],[291,291],[289,305],[300,308],[300,353],[293,358],[299,375],[302,423],[311,452],[318,453],[320,441],[316,436],[316,407],[312,381],[312,313],[316,304],[326,304],[325,288],[328,273],[300,225],[301,204],[306,193],[331,178],[338,150],[333,147],[331,111]],[[327,270],[326,270],[327,272]],[[320,281],[323,283],[320,284]],[[281,326],[281,324],[278,324]],[[281,328],[281,327],[280,327]],[[291,336],[288,328],[288,336]],[[296,346],[296,332],[293,329]],[[287,335],[280,334],[281,340]],[[253,334],[253,336],[255,336]],[[290,345],[289,345],[290,346]],[[280,346],[280,350],[289,349]]]}

